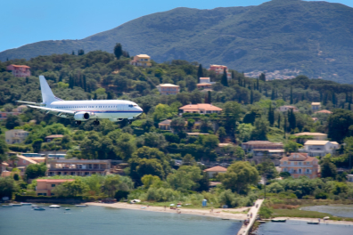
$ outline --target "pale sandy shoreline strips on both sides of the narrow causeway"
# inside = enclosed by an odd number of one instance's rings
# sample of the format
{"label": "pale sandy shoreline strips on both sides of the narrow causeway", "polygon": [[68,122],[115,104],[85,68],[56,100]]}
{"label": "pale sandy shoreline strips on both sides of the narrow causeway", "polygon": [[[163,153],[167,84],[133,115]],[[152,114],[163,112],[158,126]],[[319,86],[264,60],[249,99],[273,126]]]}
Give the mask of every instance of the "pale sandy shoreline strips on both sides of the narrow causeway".
{"label": "pale sandy shoreline strips on both sides of the narrow causeway", "polygon": [[[97,206],[97,207],[111,207],[118,209],[131,209],[131,210],[141,210],[141,211],[151,211],[151,212],[162,212],[162,213],[177,213],[176,210],[172,210],[169,207],[164,209],[164,207],[150,206],[147,207],[141,204],[128,204],[126,202],[116,202],[112,204],[97,203],[97,202],[87,202],[85,203],[88,206]],[[210,209],[195,209],[187,207],[179,207],[181,214],[186,215],[201,215],[215,217],[219,219],[229,219],[229,220],[238,220],[243,221],[247,219],[247,215],[242,212],[248,210],[250,207],[241,207],[241,208],[215,208],[213,212],[210,212]],[[286,219],[291,221],[303,221],[303,222],[313,222],[317,221],[316,218],[300,218],[300,217],[274,217],[273,219]],[[335,221],[335,220],[326,220],[321,219],[323,224],[341,224],[341,225],[353,225],[353,222],[349,221]]]}

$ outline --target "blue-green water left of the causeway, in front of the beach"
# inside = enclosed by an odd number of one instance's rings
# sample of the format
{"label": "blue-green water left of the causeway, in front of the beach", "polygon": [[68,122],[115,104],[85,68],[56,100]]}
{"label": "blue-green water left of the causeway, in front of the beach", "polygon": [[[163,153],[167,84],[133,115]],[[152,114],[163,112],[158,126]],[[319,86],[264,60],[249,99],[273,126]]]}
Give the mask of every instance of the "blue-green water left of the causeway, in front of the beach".
{"label": "blue-green water left of the causeway, in front of the beach", "polygon": [[70,207],[65,211],[30,206],[0,207],[0,234],[11,235],[234,235],[242,223],[218,218],[124,210]]}

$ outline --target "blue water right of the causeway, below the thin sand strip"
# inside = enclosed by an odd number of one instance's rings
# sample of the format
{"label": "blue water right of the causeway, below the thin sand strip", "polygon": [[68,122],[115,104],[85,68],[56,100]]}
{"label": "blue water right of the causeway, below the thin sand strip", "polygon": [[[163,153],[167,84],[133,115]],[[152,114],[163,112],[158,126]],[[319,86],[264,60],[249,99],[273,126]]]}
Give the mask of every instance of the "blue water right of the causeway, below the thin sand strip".
{"label": "blue water right of the causeway, below the thin sand strip", "polygon": [[308,224],[301,221],[287,221],[286,223],[264,223],[259,226],[259,235],[352,235],[352,225],[339,224]]}

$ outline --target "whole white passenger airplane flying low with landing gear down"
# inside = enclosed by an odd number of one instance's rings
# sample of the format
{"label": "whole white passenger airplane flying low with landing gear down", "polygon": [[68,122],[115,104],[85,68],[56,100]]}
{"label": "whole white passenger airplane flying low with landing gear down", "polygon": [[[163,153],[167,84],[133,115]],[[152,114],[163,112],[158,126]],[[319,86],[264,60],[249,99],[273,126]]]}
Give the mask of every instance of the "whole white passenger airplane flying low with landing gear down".
{"label": "whole white passenger airplane flying low with landing gear down", "polygon": [[131,124],[132,119],[144,111],[133,101],[63,101],[53,94],[44,76],[39,76],[39,82],[42,91],[42,103],[18,102],[28,104],[29,108],[44,110],[45,114],[51,113],[60,118],[74,118],[76,125],[80,125],[82,121],[95,119],[93,124],[98,126],[98,119],[109,119],[112,122],[117,122],[124,118],[127,118]]}

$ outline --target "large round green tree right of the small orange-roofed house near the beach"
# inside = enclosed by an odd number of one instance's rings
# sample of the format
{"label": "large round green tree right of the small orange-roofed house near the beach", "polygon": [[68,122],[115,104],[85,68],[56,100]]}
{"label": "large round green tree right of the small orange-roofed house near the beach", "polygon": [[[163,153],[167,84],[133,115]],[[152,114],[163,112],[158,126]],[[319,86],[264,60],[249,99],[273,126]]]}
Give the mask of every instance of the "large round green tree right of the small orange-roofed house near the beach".
{"label": "large round green tree right of the small orange-roofed house near the beach", "polygon": [[259,172],[249,162],[237,161],[226,170],[226,174],[220,175],[223,185],[237,193],[246,193],[250,184],[259,181]]}

